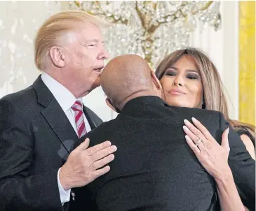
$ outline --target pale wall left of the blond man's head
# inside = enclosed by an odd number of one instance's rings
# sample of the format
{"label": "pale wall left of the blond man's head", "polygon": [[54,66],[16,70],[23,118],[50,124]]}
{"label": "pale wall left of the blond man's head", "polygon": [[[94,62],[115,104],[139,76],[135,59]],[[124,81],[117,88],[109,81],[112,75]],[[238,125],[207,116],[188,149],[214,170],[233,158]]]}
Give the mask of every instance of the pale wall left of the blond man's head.
{"label": "pale wall left of the blond man's head", "polygon": [[0,1],[0,98],[31,85],[39,75],[34,35],[59,8],[55,1]]}

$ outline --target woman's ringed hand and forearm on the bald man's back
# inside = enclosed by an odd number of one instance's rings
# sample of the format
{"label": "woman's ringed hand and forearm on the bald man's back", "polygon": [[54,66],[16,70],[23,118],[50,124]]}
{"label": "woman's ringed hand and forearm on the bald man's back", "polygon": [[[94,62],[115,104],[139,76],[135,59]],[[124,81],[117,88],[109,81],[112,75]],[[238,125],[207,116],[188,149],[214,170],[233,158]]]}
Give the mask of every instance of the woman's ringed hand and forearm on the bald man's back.
{"label": "woman's ringed hand and forearm on the bald man's back", "polygon": [[192,121],[197,128],[184,120],[186,125],[184,132],[187,134],[185,138],[198,161],[215,178],[221,209],[225,211],[245,210],[228,164],[229,129],[222,134],[222,145],[219,145],[205,126],[194,118]]}

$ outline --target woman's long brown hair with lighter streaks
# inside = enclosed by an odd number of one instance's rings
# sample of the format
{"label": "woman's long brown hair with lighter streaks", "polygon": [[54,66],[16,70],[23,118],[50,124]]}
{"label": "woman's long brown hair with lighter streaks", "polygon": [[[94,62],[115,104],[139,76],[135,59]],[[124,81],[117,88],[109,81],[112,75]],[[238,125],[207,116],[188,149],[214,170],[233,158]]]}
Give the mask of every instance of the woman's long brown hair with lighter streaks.
{"label": "woman's long brown hair with lighter streaks", "polygon": [[249,131],[250,134],[252,134],[251,137],[254,139],[252,141],[254,141],[255,144],[254,126],[229,119],[227,99],[224,95],[224,86],[222,84],[220,74],[213,64],[213,61],[211,61],[204,52],[196,48],[176,50],[175,52],[169,54],[165,59],[163,59],[159,66],[157,66],[156,77],[161,80],[166,70],[175,64],[175,62],[184,56],[184,54],[189,54],[194,58],[196,68],[199,75],[201,76],[203,85],[203,108],[222,112],[225,119],[229,121],[231,126],[233,126],[236,131],[241,131],[241,129],[246,129]]}

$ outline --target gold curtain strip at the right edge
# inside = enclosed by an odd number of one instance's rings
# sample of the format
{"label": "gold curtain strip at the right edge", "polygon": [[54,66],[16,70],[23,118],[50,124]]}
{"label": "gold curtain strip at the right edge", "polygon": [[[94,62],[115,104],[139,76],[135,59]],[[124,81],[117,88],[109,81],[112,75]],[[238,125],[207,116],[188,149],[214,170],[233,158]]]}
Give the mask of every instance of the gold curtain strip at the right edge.
{"label": "gold curtain strip at the right edge", "polygon": [[239,2],[239,120],[255,125],[255,1]]}

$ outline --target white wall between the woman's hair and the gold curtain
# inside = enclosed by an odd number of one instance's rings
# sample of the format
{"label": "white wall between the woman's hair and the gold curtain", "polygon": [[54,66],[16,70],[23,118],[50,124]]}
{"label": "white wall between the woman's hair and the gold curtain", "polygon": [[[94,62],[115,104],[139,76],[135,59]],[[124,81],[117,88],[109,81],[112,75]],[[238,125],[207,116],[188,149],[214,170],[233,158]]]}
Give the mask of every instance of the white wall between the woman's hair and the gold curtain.
{"label": "white wall between the woman's hair and the gold curtain", "polygon": [[238,1],[222,1],[220,13],[221,29],[196,29],[190,45],[201,48],[213,60],[227,90],[229,116],[238,119]]}

